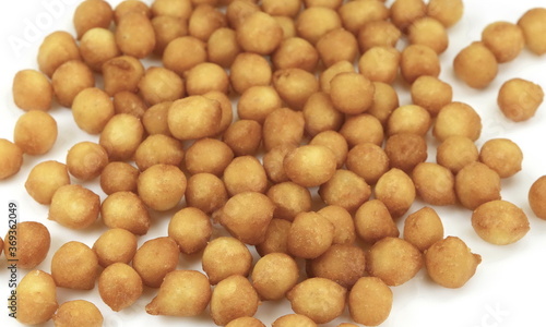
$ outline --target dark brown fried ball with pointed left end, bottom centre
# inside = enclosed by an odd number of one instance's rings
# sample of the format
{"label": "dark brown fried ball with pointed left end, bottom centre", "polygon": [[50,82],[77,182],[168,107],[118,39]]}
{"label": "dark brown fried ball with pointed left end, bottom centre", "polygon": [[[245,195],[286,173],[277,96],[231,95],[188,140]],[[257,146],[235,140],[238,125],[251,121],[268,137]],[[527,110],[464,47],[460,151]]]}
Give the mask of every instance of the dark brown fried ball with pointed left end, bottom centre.
{"label": "dark brown fried ball with pointed left end, bottom centre", "polygon": [[352,244],[333,244],[321,256],[307,262],[309,277],[328,278],[351,289],[366,274],[366,253]]}

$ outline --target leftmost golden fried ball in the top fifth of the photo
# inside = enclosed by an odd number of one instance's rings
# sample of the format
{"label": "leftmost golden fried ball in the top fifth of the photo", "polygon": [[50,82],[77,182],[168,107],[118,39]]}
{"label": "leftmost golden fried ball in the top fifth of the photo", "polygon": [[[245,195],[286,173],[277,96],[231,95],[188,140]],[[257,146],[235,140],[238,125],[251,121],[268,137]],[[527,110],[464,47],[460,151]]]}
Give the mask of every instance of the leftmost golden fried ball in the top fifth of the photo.
{"label": "leftmost golden fried ball in the top fifth of the photo", "polygon": [[46,36],[38,49],[39,70],[49,77],[64,62],[80,58],[74,38],[64,31],[56,31]]}

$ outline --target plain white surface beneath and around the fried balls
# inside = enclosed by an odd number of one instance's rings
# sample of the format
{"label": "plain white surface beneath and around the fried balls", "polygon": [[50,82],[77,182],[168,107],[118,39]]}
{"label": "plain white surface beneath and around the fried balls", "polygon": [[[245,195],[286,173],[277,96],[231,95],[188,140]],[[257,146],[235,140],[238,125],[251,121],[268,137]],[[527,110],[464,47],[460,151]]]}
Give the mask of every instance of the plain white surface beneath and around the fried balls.
{"label": "plain white surface beneath and around the fried balls", "polygon": [[[72,14],[76,0],[25,0],[3,2],[0,13],[0,138],[12,140],[13,126],[23,113],[13,104],[11,83],[13,75],[22,69],[36,69],[36,53],[41,39],[56,29],[64,29],[74,34]],[[112,5],[119,0],[110,0]],[[145,2],[150,3],[150,0]],[[392,1],[389,1],[392,2]],[[47,5],[55,3],[56,5]],[[440,78],[453,85],[454,100],[472,105],[482,116],[484,130],[477,141],[480,146],[494,137],[508,137],[520,145],[524,153],[523,170],[515,177],[502,181],[502,197],[521,206],[531,221],[531,231],[520,242],[508,246],[495,246],[479,239],[470,222],[471,211],[461,207],[438,208],[444,223],[446,235],[462,238],[473,252],[483,256],[476,275],[465,287],[458,290],[441,288],[431,282],[423,269],[410,282],[392,288],[394,305],[384,327],[431,327],[431,326],[468,326],[468,327],[515,327],[544,326],[546,310],[546,221],[536,218],[527,204],[526,196],[531,184],[541,175],[546,174],[546,108],[543,106],[534,119],[527,122],[513,123],[507,120],[496,105],[497,92],[500,85],[512,77],[522,77],[546,87],[546,56],[536,57],[524,50],[513,62],[501,64],[499,75],[485,90],[474,90],[455,81],[452,71],[452,60],[456,52],[472,40],[480,37],[482,29],[491,22],[503,20],[517,22],[527,9],[544,5],[541,0],[479,0],[465,1],[463,20],[449,31],[450,47],[441,56],[442,72]],[[49,9],[47,9],[49,8]],[[29,31],[29,25],[39,26]],[[546,36],[545,36],[546,37]],[[14,47],[14,40],[22,41]],[[400,85],[399,85],[400,86]],[[407,87],[399,88],[401,105],[408,104]],[[72,121],[71,113],[66,108],[50,111],[59,126],[59,137],[54,149],[40,157],[25,156],[25,162],[19,174],[0,182],[0,234],[8,230],[8,201],[14,199],[20,205],[20,221],[35,220],[45,223],[52,235],[51,249],[46,261],[37,268],[49,271],[49,263],[55,251],[64,242],[76,240],[92,246],[96,238],[105,230],[97,222],[91,230],[72,231],[47,220],[47,207],[34,202],[26,193],[24,181],[36,164],[55,159],[64,161],[67,150],[76,142],[83,140],[97,141],[79,131]],[[429,145],[436,143],[430,138]],[[435,160],[435,149],[430,146],[428,161]],[[73,179],[73,183],[78,183]],[[104,199],[104,193],[96,182],[84,183]],[[410,211],[423,206],[417,202]],[[165,235],[168,215],[155,217],[147,235],[139,241]],[[403,219],[399,220],[402,227]],[[254,257],[256,259],[256,257]],[[8,269],[5,258],[0,258],[0,299],[8,298]],[[181,257],[179,269],[199,269],[197,257]],[[20,269],[19,280],[27,271]],[[145,313],[144,306],[154,296],[155,290],[146,290],[145,294],[131,307],[121,313],[114,313],[98,296],[95,288],[92,291],[71,291],[59,289],[58,301],[85,299],[94,302],[105,317],[105,326],[128,327],[146,326],[211,326],[207,312],[197,318],[156,317]],[[5,301],[0,301],[0,325],[19,326],[8,318]],[[266,325],[278,316],[292,313],[289,305],[283,303],[263,303],[257,317]],[[336,326],[348,322],[348,313],[324,326]],[[52,326],[49,322],[45,326]]]}

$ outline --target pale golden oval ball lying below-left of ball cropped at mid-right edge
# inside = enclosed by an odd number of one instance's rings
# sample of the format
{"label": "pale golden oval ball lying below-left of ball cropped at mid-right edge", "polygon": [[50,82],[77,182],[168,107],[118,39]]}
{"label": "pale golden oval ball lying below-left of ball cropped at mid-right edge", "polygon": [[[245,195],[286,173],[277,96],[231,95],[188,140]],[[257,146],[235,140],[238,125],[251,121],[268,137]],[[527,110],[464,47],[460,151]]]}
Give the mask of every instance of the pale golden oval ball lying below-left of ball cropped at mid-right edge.
{"label": "pale golden oval ball lying below-left of ball cropped at mid-right edge", "polygon": [[525,213],[501,199],[477,207],[472,213],[472,227],[482,239],[496,245],[515,243],[530,230]]}

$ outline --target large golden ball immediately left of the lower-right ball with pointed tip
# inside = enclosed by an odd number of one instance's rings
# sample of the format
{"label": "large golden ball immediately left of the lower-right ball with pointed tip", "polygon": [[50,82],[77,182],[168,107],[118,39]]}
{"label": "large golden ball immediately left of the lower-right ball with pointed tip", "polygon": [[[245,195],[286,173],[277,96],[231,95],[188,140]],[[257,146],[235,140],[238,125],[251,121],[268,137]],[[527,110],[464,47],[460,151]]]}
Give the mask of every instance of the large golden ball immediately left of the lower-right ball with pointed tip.
{"label": "large golden ball immediately left of the lower-right ball with pointed tip", "polygon": [[388,286],[400,286],[420,270],[423,257],[417,247],[399,238],[387,237],[371,246],[367,270]]}

